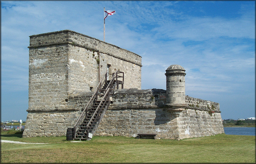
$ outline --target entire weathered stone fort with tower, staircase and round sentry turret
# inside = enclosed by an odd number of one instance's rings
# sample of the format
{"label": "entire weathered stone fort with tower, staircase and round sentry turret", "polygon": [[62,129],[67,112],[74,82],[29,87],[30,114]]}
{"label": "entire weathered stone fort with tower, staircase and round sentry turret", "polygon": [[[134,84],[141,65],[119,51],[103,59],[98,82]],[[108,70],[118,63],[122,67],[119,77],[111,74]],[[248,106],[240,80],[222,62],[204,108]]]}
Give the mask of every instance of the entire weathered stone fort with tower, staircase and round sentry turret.
{"label": "entire weathered stone fort with tower, staircase and round sentry turret", "polygon": [[[219,104],[185,95],[170,65],[166,90],[141,90],[141,56],[71,30],[30,36],[29,108],[23,137],[184,139],[224,133]],[[164,76],[164,75],[163,75]]]}

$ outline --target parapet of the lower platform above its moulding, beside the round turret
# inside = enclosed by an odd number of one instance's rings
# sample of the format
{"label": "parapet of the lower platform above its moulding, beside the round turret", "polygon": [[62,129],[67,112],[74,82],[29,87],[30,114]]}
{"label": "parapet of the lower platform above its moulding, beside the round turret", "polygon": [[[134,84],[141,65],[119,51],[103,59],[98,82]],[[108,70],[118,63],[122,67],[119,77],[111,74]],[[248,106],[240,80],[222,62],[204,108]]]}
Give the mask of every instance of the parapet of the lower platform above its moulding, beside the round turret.
{"label": "parapet of the lower platform above its moulding, beside the round turret", "polygon": [[166,90],[119,89],[114,91],[113,104],[109,109],[142,109],[142,108],[189,108],[221,113],[219,103],[186,96],[185,104],[166,104]]}

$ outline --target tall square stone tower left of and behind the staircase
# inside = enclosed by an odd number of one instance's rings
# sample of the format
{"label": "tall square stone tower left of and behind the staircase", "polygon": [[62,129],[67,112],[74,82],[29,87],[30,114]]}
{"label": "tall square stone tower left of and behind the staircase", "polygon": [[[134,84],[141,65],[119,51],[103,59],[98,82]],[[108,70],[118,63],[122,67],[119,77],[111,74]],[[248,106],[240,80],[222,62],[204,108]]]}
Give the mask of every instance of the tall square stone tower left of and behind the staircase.
{"label": "tall square stone tower left of and behind the staircase", "polygon": [[[124,72],[124,88],[141,89],[141,56],[115,45],[62,30],[31,35],[28,48],[29,108],[24,136],[65,135],[66,125],[72,126],[77,119],[73,112],[78,109],[70,96],[94,91],[106,71],[109,78],[117,70]],[[61,121],[56,120],[60,118],[57,111],[65,111]],[[39,125],[42,122],[48,124]],[[56,128],[50,126],[58,122],[63,130],[52,132]],[[38,130],[37,124],[47,130]]]}

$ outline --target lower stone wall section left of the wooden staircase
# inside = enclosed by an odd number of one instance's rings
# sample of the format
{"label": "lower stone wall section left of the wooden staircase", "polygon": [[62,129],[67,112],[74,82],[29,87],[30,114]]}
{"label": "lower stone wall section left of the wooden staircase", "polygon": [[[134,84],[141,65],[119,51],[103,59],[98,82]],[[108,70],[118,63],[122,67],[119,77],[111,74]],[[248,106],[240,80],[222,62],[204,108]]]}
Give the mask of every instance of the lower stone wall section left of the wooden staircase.
{"label": "lower stone wall section left of the wooden staircase", "polygon": [[28,112],[24,137],[63,136],[67,128],[72,128],[87,105],[93,92],[81,92],[68,96],[70,108],[57,108],[47,111],[31,109]]}

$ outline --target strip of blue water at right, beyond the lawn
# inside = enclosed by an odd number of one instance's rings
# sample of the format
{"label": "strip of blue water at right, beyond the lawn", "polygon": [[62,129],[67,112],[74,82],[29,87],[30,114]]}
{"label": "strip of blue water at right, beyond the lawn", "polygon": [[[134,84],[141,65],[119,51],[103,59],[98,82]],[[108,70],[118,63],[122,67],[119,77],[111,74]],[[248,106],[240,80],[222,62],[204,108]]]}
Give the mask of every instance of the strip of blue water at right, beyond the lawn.
{"label": "strip of blue water at right, beyond the lawn", "polygon": [[254,135],[255,127],[224,127],[225,134],[232,135]]}

